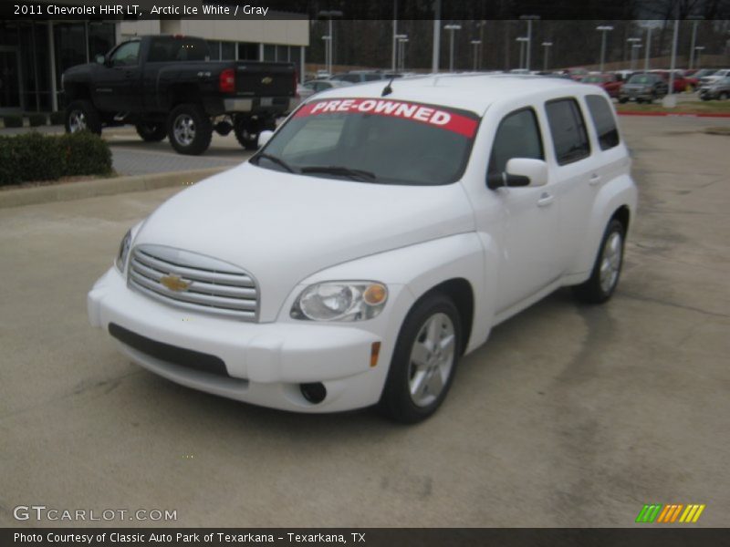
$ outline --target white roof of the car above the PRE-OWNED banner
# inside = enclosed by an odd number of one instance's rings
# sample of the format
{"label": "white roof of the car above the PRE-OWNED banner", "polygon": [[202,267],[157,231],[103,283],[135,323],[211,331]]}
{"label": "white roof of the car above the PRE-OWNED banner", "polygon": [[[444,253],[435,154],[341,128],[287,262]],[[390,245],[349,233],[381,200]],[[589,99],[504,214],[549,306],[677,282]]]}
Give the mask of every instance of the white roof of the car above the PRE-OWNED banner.
{"label": "white roof of the car above the PRE-OWNED banner", "polygon": [[[356,84],[348,88],[329,89],[311,100],[323,98],[381,98],[389,80]],[[462,108],[482,115],[486,108],[500,100],[530,98],[546,91],[584,90],[585,85],[566,78],[514,74],[437,74],[423,77],[395,78],[392,93],[384,99]]]}

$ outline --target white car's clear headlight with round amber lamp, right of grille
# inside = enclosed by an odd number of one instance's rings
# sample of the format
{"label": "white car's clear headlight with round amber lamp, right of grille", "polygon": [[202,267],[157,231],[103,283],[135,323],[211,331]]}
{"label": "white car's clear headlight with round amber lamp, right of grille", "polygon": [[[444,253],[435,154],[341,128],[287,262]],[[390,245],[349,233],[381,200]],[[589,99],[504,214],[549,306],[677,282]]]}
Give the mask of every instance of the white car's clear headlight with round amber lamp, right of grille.
{"label": "white car's clear headlight with round amber lamp, right of grille", "polygon": [[295,319],[361,321],[379,315],[388,288],[372,281],[330,281],[309,285],[291,308]]}

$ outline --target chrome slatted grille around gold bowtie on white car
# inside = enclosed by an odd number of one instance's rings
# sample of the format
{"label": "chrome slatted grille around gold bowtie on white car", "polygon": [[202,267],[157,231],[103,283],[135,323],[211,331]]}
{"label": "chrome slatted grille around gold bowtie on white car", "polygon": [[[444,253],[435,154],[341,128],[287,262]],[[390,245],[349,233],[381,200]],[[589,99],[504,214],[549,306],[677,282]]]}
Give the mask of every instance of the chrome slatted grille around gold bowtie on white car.
{"label": "chrome slatted grille around gold bowtie on white car", "polygon": [[[130,255],[128,284],[151,298],[192,311],[244,321],[258,317],[258,287],[251,274],[223,261],[162,245],[138,245]],[[188,284],[174,291],[167,276]]]}

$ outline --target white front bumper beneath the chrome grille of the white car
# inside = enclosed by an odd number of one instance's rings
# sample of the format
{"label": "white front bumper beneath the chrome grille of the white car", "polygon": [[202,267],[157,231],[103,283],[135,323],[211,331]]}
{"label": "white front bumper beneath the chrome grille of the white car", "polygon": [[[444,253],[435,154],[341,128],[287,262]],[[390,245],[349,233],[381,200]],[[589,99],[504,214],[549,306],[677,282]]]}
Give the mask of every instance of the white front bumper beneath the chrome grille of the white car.
{"label": "white front bumper beneath the chrome grille of the white car", "polygon": [[[191,314],[130,290],[115,268],[89,292],[88,308],[93,326],[109,331],[118,325],[188,354],[217,357],[227,375],[168,362],[118,340],[121,351],[139,365],[183,386],[264,407],[299,412],[368,407],[380,398],[390,363],[391,345],[384,343],[378,365],[370,366],[372,345],[384,338],[377,325],[385,321],[254,324]],[[327,389],[318,404],[308,402],[299,388],[312,382]]]}

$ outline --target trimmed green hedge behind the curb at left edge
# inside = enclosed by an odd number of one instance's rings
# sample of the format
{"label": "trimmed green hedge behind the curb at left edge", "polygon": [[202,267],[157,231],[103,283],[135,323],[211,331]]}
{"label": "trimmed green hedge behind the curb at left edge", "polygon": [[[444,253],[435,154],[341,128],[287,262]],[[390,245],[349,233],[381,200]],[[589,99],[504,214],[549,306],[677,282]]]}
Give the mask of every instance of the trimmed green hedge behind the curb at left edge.
{"label": "trimmed green hedge behind the curb at left edge", "polygon": [[32,131],[0,137],[0,186],[110,172],[109,145],[88,131],[61,136]]}

